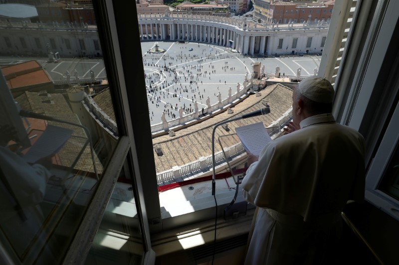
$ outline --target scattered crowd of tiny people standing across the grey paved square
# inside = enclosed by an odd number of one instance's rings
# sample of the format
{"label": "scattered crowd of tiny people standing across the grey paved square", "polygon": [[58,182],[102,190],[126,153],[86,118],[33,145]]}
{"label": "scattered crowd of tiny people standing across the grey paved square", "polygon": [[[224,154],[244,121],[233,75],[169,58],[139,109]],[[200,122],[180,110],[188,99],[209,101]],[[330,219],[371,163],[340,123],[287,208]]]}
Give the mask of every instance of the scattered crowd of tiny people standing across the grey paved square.
{"label": "scattered crowd of tiny people standing across the grey paved square", "polygon": [[[201,49],[201,55],[189,54],[183,52],[187,46],[181,46],[180,54],[176,56],[169,56],[163,54],[162,56],[153,56],[145,54],[143,56],[144,66],[151,67],[145,74],[146,90],[149,104],[150,120],[157,123],[159,119],[155,119],[154,111],[151,105],[156,108],[164,107],[162,113],[165,113],[169,120],[176,119],[180,107],[183,108],[183,114],[188,115],[193,113],[194,103],[198,102],[203,108],[207,108],[204,95],[211,94],[213,88],[211,86],[200,89],[200,84],[206,83],[210,80],[210,75],[216,74],[215,64],[212,61],[219,58],[220,52],[215,50],[214,46],[209,46],[209,52],[206,48]],[[204,64],[208,64],[204,68]],[[206,70],[205,70],[206,69]],[[221,67],[223,72],[235,71],[234,66],[230,66],[228,61],[224,62]],[[222,83],[222,80],[218,80]],[[226,84],[226,80],[223,80]],[[202,90],[202,91],[201,91]],[[219,87],[217,86],[217,90]],[[217,91],[215,90],[215,91]],[[213,93],[216,98],[215,103],[218,102],[217,94]],[[175,99],[175,100],[174,100]],[[178,99],[178,103],[176,102]],[[180,105],[180,106],[179,106]]]}

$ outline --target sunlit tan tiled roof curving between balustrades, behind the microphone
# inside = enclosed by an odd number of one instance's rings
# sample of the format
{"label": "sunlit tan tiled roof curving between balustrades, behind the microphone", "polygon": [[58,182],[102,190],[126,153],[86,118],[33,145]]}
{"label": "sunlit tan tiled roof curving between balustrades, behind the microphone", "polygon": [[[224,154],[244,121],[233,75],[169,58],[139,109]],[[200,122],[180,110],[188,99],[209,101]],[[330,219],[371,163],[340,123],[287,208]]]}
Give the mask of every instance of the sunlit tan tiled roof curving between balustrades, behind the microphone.
{"label": "sunlit tan tiled roof curving between balustrades, behind the microphone", "polygon": [[[231,119],[243,114],[264,108],[262,102],[268,102],[270,106],[270,114],[265,116],[257,116],[251,119],[238,120],[228,124],[229,132],[221,127],[215,132],[215,152],[221,150],[217,143],[217,138],[221,135],[235,133],[234,128],[245,126],[253,123],[263,122],[265,127],[269,127],[274,121],[286,113],[292,106],[292,90],[275,84],[268,86],[262,90],[260,97],[255,94],[248,96],[241,103],[235,105],[231,109],[233,114],[224,111],[208,120],[193,126],[181,129],[175,132],[175,136],[169,134],[153,138],[153,145],[161,147],[163,155],[158,156],[154,149],[154,157],[157,172],[171,169],[173,166],[184,165],[198,160],[200,157],[206,157],[212,154],[212,130],[217,123]],[[229,144],[237,143],[233,138]]]}

